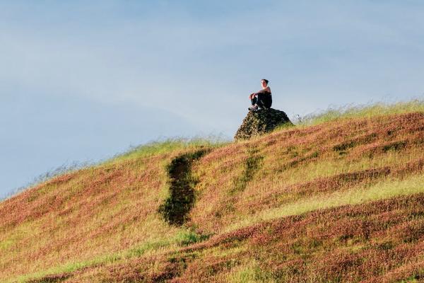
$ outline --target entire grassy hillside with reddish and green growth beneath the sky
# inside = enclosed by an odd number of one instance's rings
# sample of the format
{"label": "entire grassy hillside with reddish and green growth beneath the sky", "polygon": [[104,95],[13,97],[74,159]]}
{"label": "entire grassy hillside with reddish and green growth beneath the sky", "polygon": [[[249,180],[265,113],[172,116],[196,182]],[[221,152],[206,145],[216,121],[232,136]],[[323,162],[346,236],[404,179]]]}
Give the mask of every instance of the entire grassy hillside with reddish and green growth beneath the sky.
{"label": "entire grassy hillside with reddish and green growth beneath the sky", "polygon": [[165,141],[0,202],[1,282],[421,282],[424,103]]}

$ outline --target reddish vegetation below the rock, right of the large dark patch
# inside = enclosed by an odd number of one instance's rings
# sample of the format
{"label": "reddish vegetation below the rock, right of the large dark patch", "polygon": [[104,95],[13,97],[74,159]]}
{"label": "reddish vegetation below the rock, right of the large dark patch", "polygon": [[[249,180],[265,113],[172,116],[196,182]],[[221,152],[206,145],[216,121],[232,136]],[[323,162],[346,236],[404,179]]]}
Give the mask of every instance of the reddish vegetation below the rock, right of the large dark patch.
{"label": "reddish vegetation below the rock, right of the large dark patch", "polygon": [[[306,197],[309,193],[317,195],[360,183],[376,182],[387,176],[402,178],[420,173],[423,171],[424,152],[417,149],[423,148],[423,125],[424,114],[411,113],[276,132],[243,144],[245,151],[240,144],[237,144],[237,151],[231,149],[233,146],[218,149],[212,153],[216,156],[213,163],[210,162],[211,158],[203,159],[197,166],[201,172],[198,185],[201,197],[192,212],[192,221],[205,233],[218,233],[235,221],[237,215],[278,207]],[[371,144],[366,144],[367,139],[363,137],[372,137]],[[351,142],[358,140],[364,143]],[[406,145],[395,146],[399,140],[407,141]],[[350,146],[339,151],[339,145],[345,143]],[[234,166],[232,161],[240,163],[240,158],[246,160],[252,148],[257,149],[257,155],[264,156],[263,166],[257,170],[256,178],[250,180],[250,185],[239,195],[230,197],[229,202],[230,191],[241,173],[240,166]],[[231,158],[225,154],[229,150],[232,150]],[[306,183],[303,181],[305,173],[300,171],[300,168],[313,168],[324,162],[337,168],[341,163],[378,161],[396,153],[411,156],[411,161],[365,171],[350,171],[329,178],[313,178]],[[225,161],[230,162],[228,166]],[[293,174],[298,174],[297,182],[286,185],[284,180]]]}

